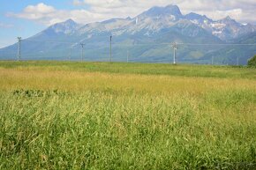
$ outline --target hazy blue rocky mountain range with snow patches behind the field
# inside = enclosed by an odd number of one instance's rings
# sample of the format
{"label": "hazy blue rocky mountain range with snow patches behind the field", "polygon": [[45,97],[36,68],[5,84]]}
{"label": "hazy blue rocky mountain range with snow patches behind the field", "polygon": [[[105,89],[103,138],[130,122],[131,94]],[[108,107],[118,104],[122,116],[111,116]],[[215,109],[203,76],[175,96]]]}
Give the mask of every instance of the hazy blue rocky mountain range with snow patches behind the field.
{"label": "hazy blue rocky mountain range with snow patches behind the field", "polygon": [[[23,59],[88,61],[109,60],[109,36],[115,61],[167,63],[171,43],[178,44],[177,60],[183,63],[240,64],[256,54],[256,26],[230,17],[183,15],[177,5],[153,7],[134,18],[111,18],[81,25],[68,19],[21,41]],[[81,43],[84,55],[81,55]],[[236,45],[232,45],[236,44]],[[240,45],[242,44],[242,45]],[[17,44],[0,49],[0,59],[14,59]]]}

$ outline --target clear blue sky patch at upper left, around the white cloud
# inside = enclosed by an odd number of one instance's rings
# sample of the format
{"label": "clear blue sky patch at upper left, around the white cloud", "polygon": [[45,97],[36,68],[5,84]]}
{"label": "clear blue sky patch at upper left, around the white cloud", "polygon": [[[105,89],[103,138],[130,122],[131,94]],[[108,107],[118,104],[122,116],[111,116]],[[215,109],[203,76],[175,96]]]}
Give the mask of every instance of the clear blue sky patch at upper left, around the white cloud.
{"label": "clear blue sky patch at upper left, around the white cloud", "polygon": [[[41,32],[47,26],[40,22],[34,22],[31,19],[7,17],[10,12],[19,13],[28,5],[36,5],[40,3],[48,4],[56,7],[56,9],[74,10],[78,8],[72,5],[69,0],[0,0],[0,48],[16,42],[18,36],[27,38],[35,33]],[[85,6],[84,6],[85,7]]]}

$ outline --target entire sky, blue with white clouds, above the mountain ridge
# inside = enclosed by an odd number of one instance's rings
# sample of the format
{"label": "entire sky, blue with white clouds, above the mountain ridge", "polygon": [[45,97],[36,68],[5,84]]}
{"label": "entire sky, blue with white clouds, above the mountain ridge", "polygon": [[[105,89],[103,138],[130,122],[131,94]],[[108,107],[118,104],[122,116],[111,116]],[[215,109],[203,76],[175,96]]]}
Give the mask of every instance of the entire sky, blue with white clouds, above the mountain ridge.
{"label": "entire sky, blue with white clouds, above the mountain ridge", "polygon": [[215,20],[230,16],[256,24],[256,0],[0,0],[0,48],[69,18],[87,24],[135,17],[168,4],[177,4],[183,14],[196,12]]}

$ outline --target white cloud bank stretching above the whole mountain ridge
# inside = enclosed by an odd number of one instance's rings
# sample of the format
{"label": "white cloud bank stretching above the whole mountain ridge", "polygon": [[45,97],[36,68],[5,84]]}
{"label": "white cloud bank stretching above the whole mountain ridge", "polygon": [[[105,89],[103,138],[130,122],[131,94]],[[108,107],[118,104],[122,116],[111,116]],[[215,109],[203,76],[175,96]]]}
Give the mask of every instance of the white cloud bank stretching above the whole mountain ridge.
{"label": "white cloud bank stretching above the whole mountain ridge", "polygon": [[109,18],[135,17],[152,6],[168,4],[177,4],[184,14],[193,11],[214,19],[225,18],[229,15],[240,22],[256,23],[255,0],[73,0],[73,5],[79,8],[85,5],[87,10],[56,10],[53,6],[41,3],[28,5],[22,12],[9,13],[8,16],[31,19],[47,26],[68,18],[86,24]]}

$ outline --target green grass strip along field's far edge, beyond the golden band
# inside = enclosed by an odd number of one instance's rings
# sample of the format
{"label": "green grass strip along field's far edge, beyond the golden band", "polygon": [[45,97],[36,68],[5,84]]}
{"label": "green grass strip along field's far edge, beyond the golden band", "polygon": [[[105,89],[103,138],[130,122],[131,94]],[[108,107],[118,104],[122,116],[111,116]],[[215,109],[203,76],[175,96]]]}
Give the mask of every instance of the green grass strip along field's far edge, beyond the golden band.
{"label": "green grass strip along field's far edge, beyond the golden band", "polygon": [[243,66],[172,65],[156,63],[4,62],[0,68],[16,70],[67,70],[201,78],[256,78],[255,68]]}

